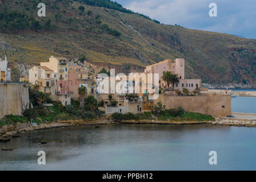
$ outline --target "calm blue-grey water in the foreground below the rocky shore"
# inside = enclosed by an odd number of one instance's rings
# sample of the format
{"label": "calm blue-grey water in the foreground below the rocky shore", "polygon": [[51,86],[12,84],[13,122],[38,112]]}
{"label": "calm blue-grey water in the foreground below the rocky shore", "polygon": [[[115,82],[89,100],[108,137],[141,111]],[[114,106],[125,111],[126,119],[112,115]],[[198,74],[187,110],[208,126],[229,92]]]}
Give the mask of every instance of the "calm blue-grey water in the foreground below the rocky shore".
{"label": "calm blue-grey water in the foreground below the rocky shore", "polygon": [[[38,144],[37,140],[62,143]],[[112,125],[33,131],[0,143],[0,170],[256,170],[250,127]],[[38,151],[46,165],[38,165]],[[209,164],[216,151],[218,164]]]}

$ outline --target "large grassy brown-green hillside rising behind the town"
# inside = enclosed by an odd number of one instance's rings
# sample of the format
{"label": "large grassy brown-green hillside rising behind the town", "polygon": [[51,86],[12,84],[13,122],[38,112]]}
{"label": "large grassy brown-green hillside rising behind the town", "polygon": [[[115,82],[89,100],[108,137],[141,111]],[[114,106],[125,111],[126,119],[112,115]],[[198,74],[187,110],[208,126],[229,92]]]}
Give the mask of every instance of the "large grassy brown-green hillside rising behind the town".
{"label": "large grassy brown-green hillside rising behind the town", "polygon": [[6,54],[11,67],[38,64],[50,56],[85,56],[99,67],[129,72],[185,58],[186,78],[256,88],[255,39],[164,25],[120,5],[99,7],[87,0],[45,1],[46,17],[40,18],[38,3],[0,0],[0,57]]}

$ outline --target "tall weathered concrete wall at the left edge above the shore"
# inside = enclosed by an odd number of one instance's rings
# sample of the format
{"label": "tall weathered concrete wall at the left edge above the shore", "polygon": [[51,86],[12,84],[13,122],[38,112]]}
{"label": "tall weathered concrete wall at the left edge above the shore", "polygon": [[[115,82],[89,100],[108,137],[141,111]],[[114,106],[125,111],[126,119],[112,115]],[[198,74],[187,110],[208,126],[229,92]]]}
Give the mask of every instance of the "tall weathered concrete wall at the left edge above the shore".
{"label": "tall weathered concrete wall at the left edge above the shore", "polygon": [[0,84],[0,118],[22,115],[29,108],[29,88],[24,84]]}

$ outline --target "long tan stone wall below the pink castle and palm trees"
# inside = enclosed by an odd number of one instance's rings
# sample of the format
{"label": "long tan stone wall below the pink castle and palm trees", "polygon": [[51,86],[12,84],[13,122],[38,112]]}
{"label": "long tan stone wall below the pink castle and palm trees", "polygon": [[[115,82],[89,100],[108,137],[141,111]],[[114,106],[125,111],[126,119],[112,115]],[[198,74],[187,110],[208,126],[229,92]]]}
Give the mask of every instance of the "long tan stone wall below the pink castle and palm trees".
{"label": "long tan stone wall below the pink castle and palm trees", "polygon": [[166,109],[182,106],[183,109],[194,112],[221,117],[231,115],[231,96],[209,93],[205,96],[165,96],[159,95],[154,104],[161,101]]}

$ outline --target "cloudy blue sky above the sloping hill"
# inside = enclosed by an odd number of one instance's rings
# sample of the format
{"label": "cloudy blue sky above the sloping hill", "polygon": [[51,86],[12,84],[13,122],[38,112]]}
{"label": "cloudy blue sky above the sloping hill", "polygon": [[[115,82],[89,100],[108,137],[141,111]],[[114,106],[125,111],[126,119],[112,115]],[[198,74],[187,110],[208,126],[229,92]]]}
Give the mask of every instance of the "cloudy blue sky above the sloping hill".
{"label": "cloudy blue sky above the sloping hill", "polygon": [[[256,0],[114,0],[165,24],[256,39]],[[209,4],[217,4],[217,17]]]}

